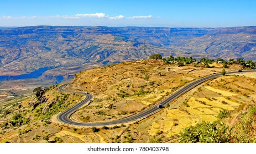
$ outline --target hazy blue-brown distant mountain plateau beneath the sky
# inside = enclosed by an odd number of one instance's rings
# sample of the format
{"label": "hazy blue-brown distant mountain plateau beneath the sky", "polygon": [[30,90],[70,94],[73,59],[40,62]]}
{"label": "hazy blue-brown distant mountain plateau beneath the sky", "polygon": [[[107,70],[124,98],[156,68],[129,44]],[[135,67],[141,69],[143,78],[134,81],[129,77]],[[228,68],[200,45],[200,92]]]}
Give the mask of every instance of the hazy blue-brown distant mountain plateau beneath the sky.
{"label": "hazy blue-brown distant mountain plateau beneath the sky", "polygon": [[[28,26],[0,29],[0,72],[79,72],[162,56],[256,60],[256,26],[225,28]],[[82,66],[82,67],[81,67]],[[71,67],[71,68],[70,68]],[[46,72],[45,74],[54,74]],[[56,72],[55,72],[56,73]]]}

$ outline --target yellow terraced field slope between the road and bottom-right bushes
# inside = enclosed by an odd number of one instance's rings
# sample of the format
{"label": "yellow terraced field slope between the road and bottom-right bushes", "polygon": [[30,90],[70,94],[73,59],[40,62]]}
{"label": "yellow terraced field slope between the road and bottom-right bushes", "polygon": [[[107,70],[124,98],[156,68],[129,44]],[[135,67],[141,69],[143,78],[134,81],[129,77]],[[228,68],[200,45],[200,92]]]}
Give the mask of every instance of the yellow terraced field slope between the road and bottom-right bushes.
{"label": "yellow terraced field slope between the road and bottom-right bushes", "polygon": [[[229,87],[231,86],[229,82],[237,81],[235,79],[224,78],[222,80],[216,79],[217,81],[213,80],[211,81],[212,83],[209,83],[211,86],[202,85],[197,88],[197,91],[187,94],[187,97],[179,98],[179,106],[170,105],[169,108],[171,109],[165,109],[166,114],[162,117],[162,120],[158,119],[156,121],[157,123],[149,127],[151,129],[150,135],[155,134],[159,138],[162,138],[157,133],[163,131],[166,138],[171,138],[171,136],[176,136],[182,129],[190,125],[195,126],[202,121],[210,123],[216,121],[221,109],[232,111],[238,108],[238,106],[241,106],[243,102],[256,99],[256,95],[253,94],[253,90],[255,89],[252,87],[245,89],[245,87],[239,85],[241,92],[230,92],[229,90],[234,90],[234,88]],[[229,89],[227,91],[219,89],[220,85],[225,85]],[[247,94],[247,96],[243,96],[243,94]]]}

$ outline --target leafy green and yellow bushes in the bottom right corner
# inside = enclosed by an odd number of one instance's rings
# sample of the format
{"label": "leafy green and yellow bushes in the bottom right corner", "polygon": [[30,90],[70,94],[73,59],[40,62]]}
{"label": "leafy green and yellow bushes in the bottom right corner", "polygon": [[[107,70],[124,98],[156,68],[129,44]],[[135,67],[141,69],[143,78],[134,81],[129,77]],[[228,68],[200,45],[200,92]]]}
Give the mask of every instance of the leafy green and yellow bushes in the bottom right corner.
{"label": "leafy green and yellow bushes in the bottom right corner", "polygon": [[[256,104],[249,105],[248,111],[238,114],[236,123],[232,128],[220,121],[213,123],[202,122],[195,127],[187,127],[179,134],[180,142],[202,143],[255,143],[256,142]],[[229,117],[230,113],[222,109],[218,114],[219,119]]]}

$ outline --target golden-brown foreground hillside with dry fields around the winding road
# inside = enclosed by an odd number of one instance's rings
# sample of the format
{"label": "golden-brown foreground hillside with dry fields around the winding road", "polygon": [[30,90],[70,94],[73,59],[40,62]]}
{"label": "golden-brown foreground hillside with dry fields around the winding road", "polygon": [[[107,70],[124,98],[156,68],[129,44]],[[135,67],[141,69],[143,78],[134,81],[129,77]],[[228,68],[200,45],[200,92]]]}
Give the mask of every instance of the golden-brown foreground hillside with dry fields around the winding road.
{"label": "golden-brown foreground hillside with dry fields around the winding road", "polygon": [[[150,59],[88,69],[76,74],[67,89],[90,92],[93,101],[78,109],[71,119],[106,122],[131,116],[159,103],[185,84],[205,75],[220,73],[223,69],[223,64],[216,62],[209,68],[205,63],[196,63],[181,67]],[[240,68],[242,65],[228,64],[225,69]],[[0,142],[179,142],[177,134],[183,129],[204,124],[203,121],[214,124],[216,120],[224,120],[228,124],[222,124],[224,128],[234,127],[233,140],[225,142],[255,142],[256,107],[248,109],[255,104],[255,76],[255,72],[220,76],[196,86],[147,118],[97,128],[67,125],[56,118],[85,96],[59,91],[57,85],[38,87],[34,89],[33,96],[0,103]],[[225,113],[223,109],[226,109]],[[203,131],[206,135],[209,134],[207,132]],[[184,134],[181,141],[191,142],[189,137],[194,135],[190,132]],[[243,139],[246,140],[237,138],[237,134],[245,136]],[[199,139],[197,136],[195,138]]]}

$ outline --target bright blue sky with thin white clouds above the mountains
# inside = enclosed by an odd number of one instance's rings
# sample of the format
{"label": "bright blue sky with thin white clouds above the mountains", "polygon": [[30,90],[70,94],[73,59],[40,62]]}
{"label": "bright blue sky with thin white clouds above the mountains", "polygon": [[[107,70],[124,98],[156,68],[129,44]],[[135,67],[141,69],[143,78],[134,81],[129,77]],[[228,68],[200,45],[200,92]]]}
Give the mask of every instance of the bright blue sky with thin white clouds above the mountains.
{"label": "bright blue sky with thin white clouds above the mountains", "polygon": [[0,26],[256,26],[256,1],[0,0]]}

